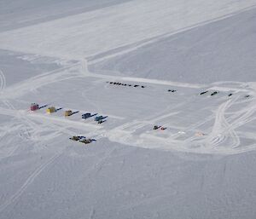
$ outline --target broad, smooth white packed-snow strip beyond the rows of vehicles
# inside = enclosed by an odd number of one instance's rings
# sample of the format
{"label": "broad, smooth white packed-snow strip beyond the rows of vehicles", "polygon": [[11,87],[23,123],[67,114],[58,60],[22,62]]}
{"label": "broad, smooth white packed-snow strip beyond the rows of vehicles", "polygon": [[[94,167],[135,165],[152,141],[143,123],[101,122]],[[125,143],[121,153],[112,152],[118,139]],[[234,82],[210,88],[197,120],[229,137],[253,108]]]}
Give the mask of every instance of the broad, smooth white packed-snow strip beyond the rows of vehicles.
{"label": "broad, smooth white packed-snow strip beyond the rows of vehicles", "polygon": [[69,59],[182,32],[255,5],[255,0],[137,0],[0,33],[2,49]]}

